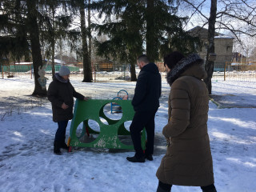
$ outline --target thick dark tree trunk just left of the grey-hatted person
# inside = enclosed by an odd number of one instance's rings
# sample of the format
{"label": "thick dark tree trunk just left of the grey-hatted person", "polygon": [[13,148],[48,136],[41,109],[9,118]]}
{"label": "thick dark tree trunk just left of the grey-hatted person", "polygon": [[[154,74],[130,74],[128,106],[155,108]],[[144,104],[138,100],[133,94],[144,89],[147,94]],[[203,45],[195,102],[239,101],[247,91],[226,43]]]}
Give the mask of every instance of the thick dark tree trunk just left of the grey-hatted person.
{"label": "thick dark tree trunk just left of the grey-hatted person", "polygon": [[30,24],[29,33],[30,33],[30,42],[31,42],[31,50],[32,50],[32,60],[33,60],[33,68],[34,68],[34,92],[32,95],[46,96],[47,91],[42,89],[42,86],[38,82],[39,74],[38,67],[42,67],[42,54],[41,47],[39,42],[39,30],[38,30],[38,22],[37,22],[37,10],[36,10],[36,1],[27,0],[27,20]]}

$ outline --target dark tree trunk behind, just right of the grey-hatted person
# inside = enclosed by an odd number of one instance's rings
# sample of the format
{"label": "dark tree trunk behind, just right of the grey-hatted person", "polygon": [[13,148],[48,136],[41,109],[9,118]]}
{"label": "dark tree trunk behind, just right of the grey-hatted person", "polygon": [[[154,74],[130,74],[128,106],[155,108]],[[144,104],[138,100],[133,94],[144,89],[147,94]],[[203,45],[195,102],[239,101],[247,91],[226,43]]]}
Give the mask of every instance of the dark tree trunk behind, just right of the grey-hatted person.
{"label": "dark tree trunk behind, just right of the grey-hatted person", "polygon": [[83,80],[82,82],[92,82],[90,59],[88,54],[88,46],[86,40],[86,13],[85,4],[82,1],[80,6],[81,15],[81,33],[82,33],[82,58],[83,58]]}

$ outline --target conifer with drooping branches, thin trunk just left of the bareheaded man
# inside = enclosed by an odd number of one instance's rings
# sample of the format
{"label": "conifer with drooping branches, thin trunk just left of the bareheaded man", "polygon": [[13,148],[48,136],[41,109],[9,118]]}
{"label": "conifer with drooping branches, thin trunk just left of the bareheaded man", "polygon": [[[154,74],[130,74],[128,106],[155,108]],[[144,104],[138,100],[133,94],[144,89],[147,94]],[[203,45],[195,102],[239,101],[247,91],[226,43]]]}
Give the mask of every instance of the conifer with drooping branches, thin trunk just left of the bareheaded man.
{"label": "conifer with drooping branches, thin trunk just left of the bareheaded man", "polygon": [[96,41],[98,54],[106,58],[112,56],[119,62],[130,63],[131,81],[136,81],[135,63],[142,54],[143,11],[142,0],[103,0],[92,7],[105,16],[102,25],[93,25],[98,35],[107,34],[105,42]]}

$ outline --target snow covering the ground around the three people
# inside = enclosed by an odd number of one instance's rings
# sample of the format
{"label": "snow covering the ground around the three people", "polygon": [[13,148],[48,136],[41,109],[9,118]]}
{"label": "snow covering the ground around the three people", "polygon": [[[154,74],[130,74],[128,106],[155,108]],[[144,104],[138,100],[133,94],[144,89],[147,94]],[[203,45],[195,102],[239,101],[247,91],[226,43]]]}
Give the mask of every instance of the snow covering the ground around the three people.
{"label": "snow covering the ground around the three people", "polygon": [[[75,89],[90,98],[110,99],[118,90],[134,94],[135,82],[82,83]],[[49,82],[47,82],[47,87]],[[156,191],[155,172],[166,151],[162,127],[167,122],[170,86],[162,82],[161,106],[156,115],[154,161],[131,163],[132,150],[82,148],[61,156],[53,153],[57,124],[47,100],[28,96],[31,79],[0,79],[0,191]],[[208,130],[214,161],[215,186],[222,192],[256,191],[255,82],[213,82],[213,94],[238,96],[240,108],[219,109],[210,102]],[[33,101],[34,99],[34,101]],[[232,99],[230,100],[232,101]],[[245,102],[246,108],[242,107]],[[254,102],[254,103],[253,103]],[[8,112],[8,113],[6,113]],[[3,114],[5,114],[3,116]],[[66,131],[69,136],[70,122]],[[172,192],[198,192],[200,187],[173,186]]]}

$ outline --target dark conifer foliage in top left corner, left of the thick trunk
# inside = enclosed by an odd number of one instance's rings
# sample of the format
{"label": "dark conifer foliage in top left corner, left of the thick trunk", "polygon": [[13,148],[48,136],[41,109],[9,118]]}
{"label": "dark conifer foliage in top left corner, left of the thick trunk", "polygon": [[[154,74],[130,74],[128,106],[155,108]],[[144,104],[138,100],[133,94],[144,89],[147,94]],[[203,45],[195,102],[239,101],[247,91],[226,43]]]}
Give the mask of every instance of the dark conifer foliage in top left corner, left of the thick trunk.
{"label": "dark conifer foliage in top left corner, left of the thick trunk", "polygon": [[26,26],[22,18],[25,12],[20,1],[0,1],[0,59],[12,58],[19,61],[29,58]]}

